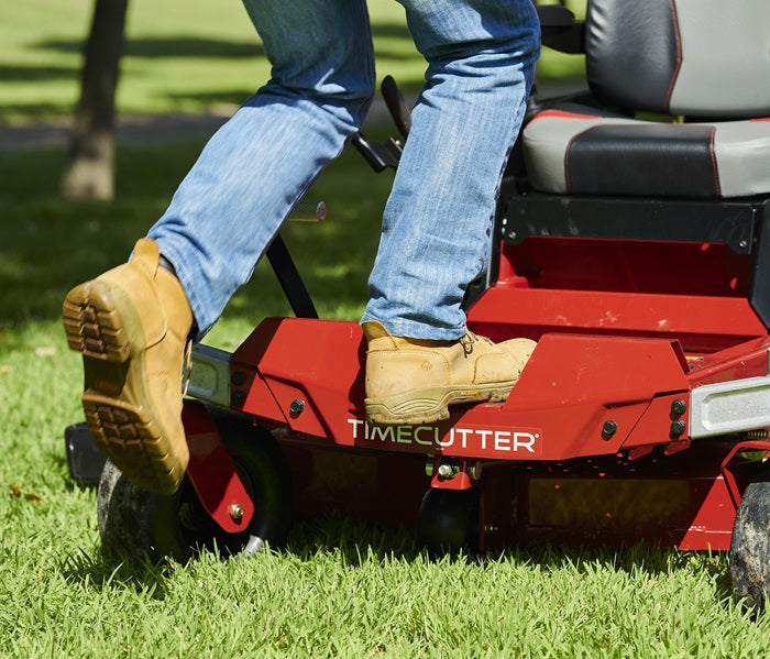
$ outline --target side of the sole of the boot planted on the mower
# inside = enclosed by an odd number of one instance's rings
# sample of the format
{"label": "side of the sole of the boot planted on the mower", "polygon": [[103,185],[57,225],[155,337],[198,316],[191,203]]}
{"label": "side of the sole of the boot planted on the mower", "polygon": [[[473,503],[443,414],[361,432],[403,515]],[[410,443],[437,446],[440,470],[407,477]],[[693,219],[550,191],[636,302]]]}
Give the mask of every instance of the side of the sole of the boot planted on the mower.
{"label": "side of the sole of the boot planted on the mower", "polygon": [[366,398],[364,408],[372,424],[418,426],[449,418],[449,406],[463,403],[502,403],[516,381],[495,382],[473,388],[457,385],[406,392],[385,398]]}

